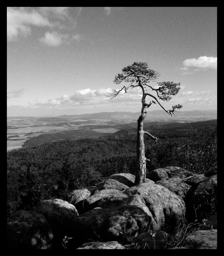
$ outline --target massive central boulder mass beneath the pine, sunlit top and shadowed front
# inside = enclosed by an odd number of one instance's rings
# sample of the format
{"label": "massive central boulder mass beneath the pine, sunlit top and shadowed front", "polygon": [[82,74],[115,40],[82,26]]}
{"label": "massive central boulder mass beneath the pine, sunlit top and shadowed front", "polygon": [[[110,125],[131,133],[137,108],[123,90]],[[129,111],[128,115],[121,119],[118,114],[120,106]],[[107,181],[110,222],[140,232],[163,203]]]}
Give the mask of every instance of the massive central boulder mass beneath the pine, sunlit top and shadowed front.
{"label": "massive central boulder mass beneath the pine, sunlit top and shadowed front", "polygon": [[105,189],[85,199],[92,208],[72,221],[72,237],[81,244],[94,241],[130,243],[148,230],[178,234],[185,225],[184,201],[154,181],[120,191]]}

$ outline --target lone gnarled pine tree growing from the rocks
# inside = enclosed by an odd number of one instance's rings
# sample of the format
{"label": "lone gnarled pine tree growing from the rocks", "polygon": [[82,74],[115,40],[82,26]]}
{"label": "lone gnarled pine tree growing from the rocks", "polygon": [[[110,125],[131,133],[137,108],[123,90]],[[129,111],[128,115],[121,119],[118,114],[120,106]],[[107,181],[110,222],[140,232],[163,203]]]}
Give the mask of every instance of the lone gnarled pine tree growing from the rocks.
{"label": "lone gnarled pine tree growing from the rocks", "polygon": [[[174,82],[157,82],[157,87],[152,87],[149,85],[151,81],[155,81],[160,74],[148,68],[148,64],[145,62],[134,62],[134,64],[124,67],[122,69],[122,74],[118,74],[115,76],[113,82],[115,84],[120,84],[122,82],[129,83],[128,86],[123,86],[120,90],[113,90],[112,93],[108,93],[106,96],[111,97],[113,99],[119,93],[124,91],[125,93],[128,92],[128,89],[140,87],[143,92],[142,96],[142,110],[141,115],[138,119],[137,125],[137,166],[136,166],[136,173],[135,173],[135,185],[145,182],[146,176],[146,161],[149,161],[145,157],[145,144],[144,144],[144,134],[148,135],[157,142],[157,137],[154,137],[147,131],[143,130],[143,122],[146,117],[146,109],[149,108],[152,103],[158,103],[160,107],[166,111],[166,113],[172,115],[175,112],[175,109],[180,109],[182,106],[180,104],[172,106],[171,110],[166,110],[166,108],[161,105],[159,100],[163,102],[168,102],[172,99],[171,96],[177,95],[180,90],[180,83]],[[151,93],[148,93],[147,89],[151,89],[157,94],[157,97]],[[149,96],[151,100],[146,103],[146,96]]]}

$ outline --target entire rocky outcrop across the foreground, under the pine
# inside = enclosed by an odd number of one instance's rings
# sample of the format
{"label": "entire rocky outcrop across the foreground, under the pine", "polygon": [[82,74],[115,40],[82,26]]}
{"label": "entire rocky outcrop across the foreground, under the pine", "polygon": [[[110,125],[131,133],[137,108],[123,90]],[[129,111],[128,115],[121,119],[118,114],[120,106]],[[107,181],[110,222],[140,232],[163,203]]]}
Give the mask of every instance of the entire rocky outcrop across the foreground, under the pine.
{"label": "entire rocky outcrop across the foreground, under the pine", "polygon": [[[63,249],[61,242],[67,236],[72,238],[67,249],[169,247],[167,239],[182,234],[186,218],[188,223],[195,221],[192,212],[195,213],[196,208],[197,219],[206,218],[210,223],[206,228],[217,228],[217,175],[208,176],[213,173],[195,175],[183,168],[169,166],[149,172],[146,182],[137,186],[134,186],[134,175],[110,175],[96,187],[73,191],[69,202],[45,200],[30,212],[17,212],[13,215],[14,221],[7,220],[9,246],[43,249],[52,245],[52,249]],[[17,235],[20,234],[18,227],[28,241]],[[209,231],[207,234],[214,242],[207,244],[208,249],[214,248],[215,231],[202,230],[202,227],[198,231]],[[197,249],[201,249],[203,239],[195,242],[195,237],[205,234],[192,234],[182,248],[191,249],[189,244],[198,244]]]}

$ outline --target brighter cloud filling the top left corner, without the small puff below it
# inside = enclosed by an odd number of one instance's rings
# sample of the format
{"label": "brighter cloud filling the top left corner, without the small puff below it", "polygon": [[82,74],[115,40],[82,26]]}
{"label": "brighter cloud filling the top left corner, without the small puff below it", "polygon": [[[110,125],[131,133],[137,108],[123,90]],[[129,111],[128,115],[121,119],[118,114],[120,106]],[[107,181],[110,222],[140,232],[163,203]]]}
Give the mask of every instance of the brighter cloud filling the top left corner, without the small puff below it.
{"label": "brighter cloud filling the top left corner, without the small puff below it", "polygon": [[27,35],[30,26],[50,26],[50,23],[33,9],[7,7],[7,40],[12,41],[19,34]]}

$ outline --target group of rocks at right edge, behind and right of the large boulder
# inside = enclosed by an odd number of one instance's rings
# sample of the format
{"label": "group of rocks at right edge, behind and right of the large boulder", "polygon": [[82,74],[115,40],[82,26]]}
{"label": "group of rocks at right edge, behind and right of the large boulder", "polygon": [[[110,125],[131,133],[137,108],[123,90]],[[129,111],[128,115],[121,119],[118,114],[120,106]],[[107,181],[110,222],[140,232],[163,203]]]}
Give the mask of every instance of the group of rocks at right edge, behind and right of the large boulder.
{"label": "group of rocks at right edge, behind and right of the large boulder", "polygon": [[195,218],[202,221],[217,212],[217,175],[209,176],[214,172],[217,173],[217,169],[195,175],[183,168],[168,166],[149,172],[147,177],[179,195],[186,204],[188,222],[193,222]]}

